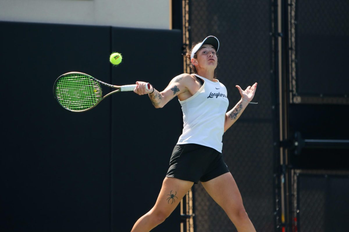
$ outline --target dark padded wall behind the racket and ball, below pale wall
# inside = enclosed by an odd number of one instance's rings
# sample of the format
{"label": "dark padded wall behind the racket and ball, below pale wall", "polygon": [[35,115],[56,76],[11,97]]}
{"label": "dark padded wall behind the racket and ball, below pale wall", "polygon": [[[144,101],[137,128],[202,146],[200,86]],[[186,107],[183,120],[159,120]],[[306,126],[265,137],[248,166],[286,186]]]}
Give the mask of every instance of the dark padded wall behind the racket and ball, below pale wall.
{"label": "dark padded wall behind the racket and ball, below pale wall", "polygon": [[[127,92],[72,113],[52,87],[80,71],[163,89],[183,70],[180,31],[9,22],[0,30],[0,230],[130,231],[161,188],[181,132],[179,103],[157,110]],[[124,58],[117,67],[113,51]],[[164,230],[179,230],[178,208],[154,231]]]}

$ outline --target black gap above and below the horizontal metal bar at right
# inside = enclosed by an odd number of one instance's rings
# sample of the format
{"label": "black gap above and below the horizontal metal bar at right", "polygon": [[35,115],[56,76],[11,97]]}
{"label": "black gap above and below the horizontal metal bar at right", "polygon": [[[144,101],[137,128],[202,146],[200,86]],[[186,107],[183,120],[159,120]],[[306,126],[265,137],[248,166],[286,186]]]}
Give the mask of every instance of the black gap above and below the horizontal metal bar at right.
{"label": "black gap above and below the horizontal metal bar at right", "polygon": [[[299,132],[303,139],[349,139],[348,105],[291,104],[289,133]],[[305,147],[301,154],[290,153],[290,165],[302,169],[349,170],[349,150]]]}

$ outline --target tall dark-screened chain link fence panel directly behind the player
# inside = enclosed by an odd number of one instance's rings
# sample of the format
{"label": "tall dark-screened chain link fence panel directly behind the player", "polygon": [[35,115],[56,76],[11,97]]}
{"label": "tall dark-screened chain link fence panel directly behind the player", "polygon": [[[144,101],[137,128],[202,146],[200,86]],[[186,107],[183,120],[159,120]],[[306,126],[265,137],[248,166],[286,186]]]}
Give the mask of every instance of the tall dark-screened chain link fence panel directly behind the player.
{"label": "tall dark-screened chain link fence panel directly behind the player", "polygon": [[[269,1],[190,1],[190,41],[208,35],[220,41],[216,78],[228,90],[231,109],[239,101],[236,85],[258,82],[253,99],[223,136],[223,157],[257,231],[274,231],[273,112],[270,78]],[[194,186],[196,232],[236,231],[228,216],[199,183]]]}

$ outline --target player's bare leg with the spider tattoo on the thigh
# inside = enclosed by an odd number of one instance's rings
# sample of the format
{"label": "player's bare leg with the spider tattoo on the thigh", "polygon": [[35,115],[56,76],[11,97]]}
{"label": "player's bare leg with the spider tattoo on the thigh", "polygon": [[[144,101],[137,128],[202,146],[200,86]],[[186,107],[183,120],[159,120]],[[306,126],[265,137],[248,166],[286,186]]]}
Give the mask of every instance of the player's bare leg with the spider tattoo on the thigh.
{"label": "player's bare leg with the spider tattoo on the thigh", "polygon": [[170,216],[194,182],[165,177],[155,206],[138,219],[131,232],[147,232]]}

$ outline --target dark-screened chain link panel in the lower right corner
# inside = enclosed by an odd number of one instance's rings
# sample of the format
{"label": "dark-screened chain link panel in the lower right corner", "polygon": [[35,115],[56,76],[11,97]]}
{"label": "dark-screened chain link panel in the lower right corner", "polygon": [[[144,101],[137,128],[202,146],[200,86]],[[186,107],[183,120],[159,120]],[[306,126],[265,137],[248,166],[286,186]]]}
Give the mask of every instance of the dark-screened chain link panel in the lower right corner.
{"label": "dark-screened chain link panel in the lower right corner", "polygon": [[293,174],[292,232],[345,231],[349,217],[349,171],[301,170]]}

